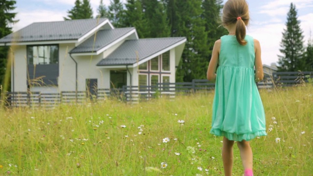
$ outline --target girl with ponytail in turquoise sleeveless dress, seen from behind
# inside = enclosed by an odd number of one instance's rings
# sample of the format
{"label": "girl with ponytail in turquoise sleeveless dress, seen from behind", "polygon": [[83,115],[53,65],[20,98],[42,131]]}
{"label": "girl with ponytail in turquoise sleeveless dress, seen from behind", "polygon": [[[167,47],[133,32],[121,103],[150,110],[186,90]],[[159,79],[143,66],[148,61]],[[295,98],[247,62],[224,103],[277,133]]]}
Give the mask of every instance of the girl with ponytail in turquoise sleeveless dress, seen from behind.
{"label": "girl with ponytail in turquoise sleeveless dress, seen from behind", "polygon": [[248,22],[246,0],[228,0],[224,4],[222,23],[229,34],[215,42],[207,70],[207,79],[216,80],[210,133],[224,136],[225,176],[232,173],[234,141],[240,150],[245,176],[253,176],[248,141],[267,135],[264,108],[255,83],[263,80],[261,47],[259,41],[246,35]]}

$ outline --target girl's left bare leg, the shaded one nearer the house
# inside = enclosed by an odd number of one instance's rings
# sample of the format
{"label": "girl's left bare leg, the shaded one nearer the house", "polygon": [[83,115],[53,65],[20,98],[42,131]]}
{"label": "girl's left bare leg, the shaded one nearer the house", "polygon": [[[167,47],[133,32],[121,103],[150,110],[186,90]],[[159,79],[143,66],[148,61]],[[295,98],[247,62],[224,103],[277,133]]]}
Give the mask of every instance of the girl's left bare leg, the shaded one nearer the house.
{"label": "girl's left bare leg, the shaded one nearer the house", "polygon": [[231,176],[233,169],[233,145],[234,141],[228,140],[226,137],[224,137],[222,158],[225,176]]}

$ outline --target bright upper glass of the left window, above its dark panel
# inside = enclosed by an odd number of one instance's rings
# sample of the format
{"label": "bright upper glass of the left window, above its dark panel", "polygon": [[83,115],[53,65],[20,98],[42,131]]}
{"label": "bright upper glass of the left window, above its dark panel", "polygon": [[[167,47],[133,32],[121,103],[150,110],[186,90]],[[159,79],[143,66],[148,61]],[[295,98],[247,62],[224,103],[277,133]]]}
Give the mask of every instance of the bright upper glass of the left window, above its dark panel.
{"label": "bright upper glass of the left window, above its dark panel", "polygon": [[27,63],[29,65],[58,64],[59,45],[27,46]]}

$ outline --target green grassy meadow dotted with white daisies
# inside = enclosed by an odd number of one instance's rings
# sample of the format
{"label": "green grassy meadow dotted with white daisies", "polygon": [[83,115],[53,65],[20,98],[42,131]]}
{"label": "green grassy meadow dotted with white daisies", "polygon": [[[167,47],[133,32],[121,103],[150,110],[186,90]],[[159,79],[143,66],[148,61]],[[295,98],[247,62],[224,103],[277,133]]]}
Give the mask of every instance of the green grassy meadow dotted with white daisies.
{"label": "green grassy meadow dotted with white daisies", "polygon": [[[268,136],[250,142],[254,175],[313,176],[313,87],[260,93]],[[220,176],[222,137],[209,134],[213,96],[2,110],[0,175]],[[243,174],[236,145],[233,173]]]}

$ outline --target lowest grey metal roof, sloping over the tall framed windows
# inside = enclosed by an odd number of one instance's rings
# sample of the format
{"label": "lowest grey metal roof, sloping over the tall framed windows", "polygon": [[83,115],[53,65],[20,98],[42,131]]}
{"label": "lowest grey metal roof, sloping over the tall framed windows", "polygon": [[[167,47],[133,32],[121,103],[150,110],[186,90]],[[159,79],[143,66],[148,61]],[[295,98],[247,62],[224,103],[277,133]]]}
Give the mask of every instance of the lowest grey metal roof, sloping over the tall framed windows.
{"label": "lowest grey metal roof, sloping over the tall framed windows", "polygon": [[97,66],[135,64],[136,51],[140,61],[184,39],[185,37],[170,37],[125,41],[107,58],[102,59]]}

